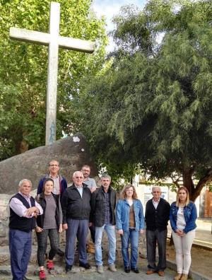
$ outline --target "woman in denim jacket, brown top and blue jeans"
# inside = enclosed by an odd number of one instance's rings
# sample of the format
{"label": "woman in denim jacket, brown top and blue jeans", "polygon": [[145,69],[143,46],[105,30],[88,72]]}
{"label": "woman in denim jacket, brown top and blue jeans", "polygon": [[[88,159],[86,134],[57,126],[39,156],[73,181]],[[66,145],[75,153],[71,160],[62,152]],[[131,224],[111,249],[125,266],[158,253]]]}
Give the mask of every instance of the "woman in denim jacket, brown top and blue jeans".
{"label": "woman in denim jacket, brown top and blue jeans", "polygon": [[[137,268],[139,233],[143,233],[144,218],[143,206],[137,199],[136,189],[133,185],[126,185],[122,189],[122,199],[116,207],[117,231],[122,239],[122,257],[124,271],[130,269],[139,273]],[[131,243],[131,260],[129,261],[129,243]]]}

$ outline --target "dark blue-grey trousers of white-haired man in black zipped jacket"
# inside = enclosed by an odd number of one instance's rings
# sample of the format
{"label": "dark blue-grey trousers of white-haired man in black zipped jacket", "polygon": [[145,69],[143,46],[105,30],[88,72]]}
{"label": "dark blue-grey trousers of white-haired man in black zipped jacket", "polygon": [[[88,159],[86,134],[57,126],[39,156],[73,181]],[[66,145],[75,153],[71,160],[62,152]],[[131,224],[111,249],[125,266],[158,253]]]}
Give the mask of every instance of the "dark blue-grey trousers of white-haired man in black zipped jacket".
{"label": "dark blue-grey trousers of white-haired man in black zipped jacket", "polygon": [[78,240],[78,259],[79,262],[87,263],[86,238],[88,235],[88,220],[67,220],[66,230],[66,264],[73,265],[75,239]]}

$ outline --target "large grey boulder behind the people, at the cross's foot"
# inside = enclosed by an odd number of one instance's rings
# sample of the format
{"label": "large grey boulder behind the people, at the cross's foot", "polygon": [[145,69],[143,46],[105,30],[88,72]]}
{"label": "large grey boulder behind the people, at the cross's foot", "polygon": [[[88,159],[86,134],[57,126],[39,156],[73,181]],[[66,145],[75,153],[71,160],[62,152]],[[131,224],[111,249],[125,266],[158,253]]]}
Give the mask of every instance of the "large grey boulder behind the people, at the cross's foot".
{"label": "large grey boulder behind the people, at the cross's foot", "polygon": [[90,165],[91,177],[97,175],[85,136],[76,134],[1,161],[0,193],[16,193],[18,182],[24,178],[31,180],[33,189],[36,189],[40,177],[48,172],[48,163],[52,159],[59,161],[60,173],[66,177],[68,184],[73,172],[81,170],[83,164]]}

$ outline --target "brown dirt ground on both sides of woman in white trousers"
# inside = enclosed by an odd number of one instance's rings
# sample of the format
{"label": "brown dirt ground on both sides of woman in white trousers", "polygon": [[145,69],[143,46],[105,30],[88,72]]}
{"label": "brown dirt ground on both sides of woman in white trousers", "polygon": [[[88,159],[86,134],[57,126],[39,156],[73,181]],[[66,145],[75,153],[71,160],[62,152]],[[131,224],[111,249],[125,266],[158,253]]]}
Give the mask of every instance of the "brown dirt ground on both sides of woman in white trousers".
{"label": "brown dirt ground on both sides of woman in white trousers", "polygon": [[[175,247],[173,245],[167,245],[167,259],[175,261]],[[191,269],[212,279],[212,250],[192,246]]]}

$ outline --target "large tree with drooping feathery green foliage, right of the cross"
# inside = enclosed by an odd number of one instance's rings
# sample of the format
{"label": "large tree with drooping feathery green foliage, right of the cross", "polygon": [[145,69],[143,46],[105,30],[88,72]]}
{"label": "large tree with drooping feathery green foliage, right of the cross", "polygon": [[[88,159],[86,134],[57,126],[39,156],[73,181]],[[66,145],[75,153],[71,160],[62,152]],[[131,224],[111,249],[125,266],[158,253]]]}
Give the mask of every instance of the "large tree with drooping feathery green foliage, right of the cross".
{"label": "large tree with drooping feathery green foliage, right of the cross", "polygon": [[171,0],[114,19],[112,65],[81,98],[84,133],[113,174],[182,176],[194,201],[212,179],[211,19],[211,1]]}

